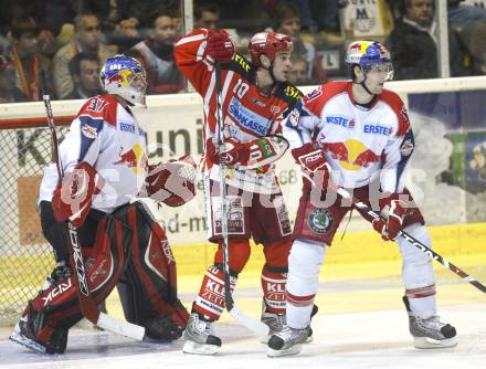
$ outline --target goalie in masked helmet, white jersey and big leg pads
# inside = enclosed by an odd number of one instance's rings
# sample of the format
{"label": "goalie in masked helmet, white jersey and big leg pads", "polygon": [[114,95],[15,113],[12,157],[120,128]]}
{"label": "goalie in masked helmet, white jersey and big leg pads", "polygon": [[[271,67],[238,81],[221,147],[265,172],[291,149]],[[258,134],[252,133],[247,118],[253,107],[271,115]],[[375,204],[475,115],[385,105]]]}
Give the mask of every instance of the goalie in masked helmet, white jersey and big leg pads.
{"label": "goalie in masked helmet, white jersey and big leg pads", "polygon": [[172,340],[189,318],[177,297],[176,262],[165,230],[139,197],[181,205],[194,196],[196,165],[148,165],[145,130],[130,106],[145,106],[146,80],[131,57],[107,60],[101,73],[107,92],[88,99],[59,152],[64,177],[45,169],[40,189],[41,223],[59,264],[25,307],[12,340],[40,352],[62,354],[68,329],[81,318],[68,259],[67,219],[77,228],[86,281],[96,304],[117,285],[128,321],[146,336]]}

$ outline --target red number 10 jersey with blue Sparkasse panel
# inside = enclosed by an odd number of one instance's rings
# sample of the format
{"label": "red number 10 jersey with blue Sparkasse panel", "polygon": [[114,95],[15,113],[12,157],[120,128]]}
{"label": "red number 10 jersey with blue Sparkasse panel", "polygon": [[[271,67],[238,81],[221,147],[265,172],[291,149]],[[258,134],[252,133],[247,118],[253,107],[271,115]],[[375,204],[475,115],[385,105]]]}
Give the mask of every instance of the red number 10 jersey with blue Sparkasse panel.
{"label": "red number 10 jersey with blue Sparkasse panel", "polygon": [[[179,70],[203,98],[203,143],[204,154],[201,170],[219,181],[219,166],[208,155],[218,137],[216,84],[214,62],[205,56],[208,30],[194,30],[176,44],[175,57]],[[288,83],[278,83],[274,91],[262,94],[255,84],[256,68],[240,54],[230,63],[221,65],[222,130],[228,139],[246,143],[281,131],[281,120],[300,101],[302,93]],[[254,192],[276,189],[273,169],[231,171],[234,176],[229,183]]]}

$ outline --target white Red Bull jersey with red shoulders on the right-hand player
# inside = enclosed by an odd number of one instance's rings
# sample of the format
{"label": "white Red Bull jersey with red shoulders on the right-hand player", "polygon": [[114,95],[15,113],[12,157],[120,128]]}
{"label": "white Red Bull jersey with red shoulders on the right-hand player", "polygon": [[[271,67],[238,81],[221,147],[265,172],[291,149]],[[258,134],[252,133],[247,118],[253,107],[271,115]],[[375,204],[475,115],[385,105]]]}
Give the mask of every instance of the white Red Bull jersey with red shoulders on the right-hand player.
{"label": "white Red Bull jersey with red shoulders on the right-hand player", "polygon": [[284,137],[293,148],[317,141],[341,187],[362,187],[380,176],[383,192],[401,192],[414,148],[406,108],[387,89],[371,107],[356,105],[351,87],[329,82],[304,96],[283,122]]}

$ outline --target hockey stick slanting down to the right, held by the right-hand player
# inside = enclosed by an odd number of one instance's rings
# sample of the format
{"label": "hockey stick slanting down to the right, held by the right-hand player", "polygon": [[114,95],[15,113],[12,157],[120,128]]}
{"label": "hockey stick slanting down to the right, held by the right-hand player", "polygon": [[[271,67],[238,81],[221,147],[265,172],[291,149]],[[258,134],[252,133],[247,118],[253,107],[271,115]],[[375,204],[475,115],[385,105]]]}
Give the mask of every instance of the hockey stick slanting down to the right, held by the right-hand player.
{"label": "hockey stick slanting down to the right, held by the right-hand player", "polygon": [[[346,191],[345,189],[338,187],[336,183],[329,181],[328,188],[340,194],[342,198],[350,200],[355,207],[362,210],[363,212],[368,213],[368,215],[372,217],[373,219],[380,218],[380,215],[374,212],[369,205],[367,205],[364,202],[358,200],[356,197],[353,197],[351,193]],[[462,268],[455,266],[453,263],[448,262],[444,257],[442,257],[440,254],[437,254],[432,249],[424,245],[422,242],[416,240],[415,238],[411,236],[405,231],[400,231],[398,236],[402,236],[406,241],[409,241],[412,245],[420,249],[422,252],[427,254],[431,259],[437,261],[442,265],[444,265],[446,268],[448,268],[451,272],[457,274],[459,277],[462,277],[464,281],[471,283],[473,286],[475,286],[477,289],[479,289],[483,293],[486,293],[486,286],[479,283],[476,278],[464,272]]]}

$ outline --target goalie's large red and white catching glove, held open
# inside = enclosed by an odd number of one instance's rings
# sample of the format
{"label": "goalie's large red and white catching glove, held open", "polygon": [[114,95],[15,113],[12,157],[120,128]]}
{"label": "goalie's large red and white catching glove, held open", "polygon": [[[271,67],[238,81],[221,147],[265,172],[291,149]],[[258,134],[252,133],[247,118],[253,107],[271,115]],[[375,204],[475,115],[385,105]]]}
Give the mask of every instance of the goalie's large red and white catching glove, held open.
{"label": "goalie's large red and white catching glove, held open", "polygon": [[169,207],[180,207],[196,196],[196,162],[190,155],[177,160],[148,166],[145,189],[140,197],[149,197]]}

